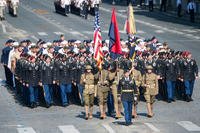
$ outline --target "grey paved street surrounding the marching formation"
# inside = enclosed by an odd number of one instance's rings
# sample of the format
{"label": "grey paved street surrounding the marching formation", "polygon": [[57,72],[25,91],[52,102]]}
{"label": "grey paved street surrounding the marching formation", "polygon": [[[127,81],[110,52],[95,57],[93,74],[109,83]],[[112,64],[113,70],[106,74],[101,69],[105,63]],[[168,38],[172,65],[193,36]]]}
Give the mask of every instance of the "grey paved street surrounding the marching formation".
{"label": "grey paved street surrounding the marching formation", "polygon": [[[19,15],[14,18],[6,14],[6,21],[0,22],[0,49],[8,38],[23,40],[39,38],[46,41],[58,39],[65,34],[66,39],[92,39],[94,17],[84,20],[77,15],[68,17],[55,13],[53,0],[20,0]],[[112,5],[104,3],[100,7],[100,21],[103,39],[108,39]],[[124,33],[126,7],[116,6],[121,38]],[[176,50],[189,50],[200,66],[200,24],[179,20],[176,16],[165,16],[158,11],[149,13],[135,8],[138,36],[156,36],[161,42],[168,42]],[[195,83],[193,102],[176,101],[168,104],[155,103],[155,117],[145,116],[145,102],[138,106],[139,117],[133,125],[123,125],[124,119],[99,119],[99,108],[95,106],[95,117],[84,119],[84,108],[70,105],[63,108],[23,106],[13,91],[4,84],[4,69],[0,68],[0,133],[200,133],[200,81]]]}

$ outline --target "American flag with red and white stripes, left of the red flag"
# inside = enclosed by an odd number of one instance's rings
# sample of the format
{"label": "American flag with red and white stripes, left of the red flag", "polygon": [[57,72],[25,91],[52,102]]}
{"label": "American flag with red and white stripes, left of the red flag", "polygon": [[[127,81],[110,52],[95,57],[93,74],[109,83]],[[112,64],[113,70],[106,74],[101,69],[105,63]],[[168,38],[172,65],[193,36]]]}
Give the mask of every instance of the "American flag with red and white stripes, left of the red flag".
{"label": "American flag with red and white stripes, left of the red flag", "polygon": [[99,24],[99,12],[95,11],[95,22],[94,22],[94,59],[97,61],[97,66],[101,69],[103,61],[102,53],[102,37],[101,29]]}

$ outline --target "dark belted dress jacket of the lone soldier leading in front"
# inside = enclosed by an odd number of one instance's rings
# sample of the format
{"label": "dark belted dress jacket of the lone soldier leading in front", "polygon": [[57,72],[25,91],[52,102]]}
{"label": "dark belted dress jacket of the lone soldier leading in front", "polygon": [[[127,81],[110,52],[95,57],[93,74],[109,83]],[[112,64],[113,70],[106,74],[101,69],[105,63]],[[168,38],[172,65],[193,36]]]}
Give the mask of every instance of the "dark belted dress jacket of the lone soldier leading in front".
{"label": "dark belted dress jacket of the lone soldier leading in front", "polygon": [[129,77],[126,79],[123,77],[119,82],[118,94],[121,95],[122,101],[133,101],[134,93],[136,92],[135,81]]}

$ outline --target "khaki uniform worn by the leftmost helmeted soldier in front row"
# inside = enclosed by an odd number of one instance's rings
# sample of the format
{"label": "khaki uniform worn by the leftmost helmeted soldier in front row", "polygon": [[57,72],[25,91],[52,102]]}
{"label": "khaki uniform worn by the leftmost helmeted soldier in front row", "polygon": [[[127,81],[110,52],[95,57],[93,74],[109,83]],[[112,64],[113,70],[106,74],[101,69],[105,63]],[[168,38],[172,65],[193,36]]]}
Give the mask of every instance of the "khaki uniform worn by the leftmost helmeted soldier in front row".
{"label": "khaki uniform worn by the leftmost helmeted soldier in front row", "polygon": [[85,100],[85,105],[92,107],[94,105],[94,75],[92,73],[85,73],[81,75],[80,83],[85,86],[83,91],[83,97]]}

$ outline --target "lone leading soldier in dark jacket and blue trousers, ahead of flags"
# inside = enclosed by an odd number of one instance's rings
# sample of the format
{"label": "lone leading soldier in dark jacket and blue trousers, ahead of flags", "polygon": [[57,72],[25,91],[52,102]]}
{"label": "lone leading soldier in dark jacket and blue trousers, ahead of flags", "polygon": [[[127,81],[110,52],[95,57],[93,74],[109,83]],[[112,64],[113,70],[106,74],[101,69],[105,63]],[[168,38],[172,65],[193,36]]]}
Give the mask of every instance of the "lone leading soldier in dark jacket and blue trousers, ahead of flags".
{"label": "lone leading soldier in dark jacket and blue trousers, ahead of flags", "polygon": [[121,101],[124,107],[124,116],[126,125],[129,126],[132,124],[132,106],[133,106],[133,97],[136,92],[135,81],[130,77],[129,70],[124,71],[124,76],[119,82],[118,94],[121,96]]}

